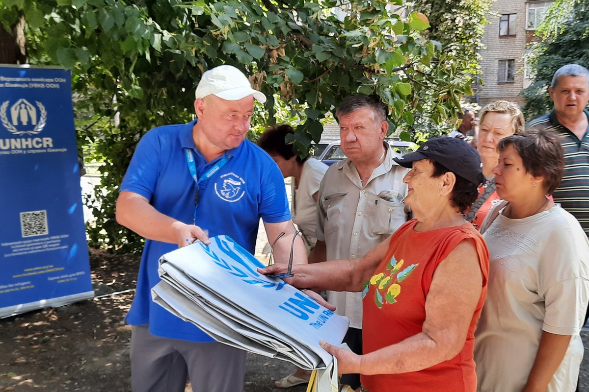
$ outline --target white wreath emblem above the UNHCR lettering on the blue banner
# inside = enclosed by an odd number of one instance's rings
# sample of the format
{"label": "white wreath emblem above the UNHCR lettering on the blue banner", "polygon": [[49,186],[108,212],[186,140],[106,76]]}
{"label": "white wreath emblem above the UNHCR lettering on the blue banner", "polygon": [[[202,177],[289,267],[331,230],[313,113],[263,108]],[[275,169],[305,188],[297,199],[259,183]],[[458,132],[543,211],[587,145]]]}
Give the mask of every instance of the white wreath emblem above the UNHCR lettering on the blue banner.
{"label": "white wreath emblem above the UNHCR lettering on the blue banner", "polygon": [[9,107],[9,100],[2,102],[0,120],[4,128],[12,135],[36,135],[41,132],[47,125],[47,110],[41,102],[36,100],[35,103],[37,106],[21,98]]}

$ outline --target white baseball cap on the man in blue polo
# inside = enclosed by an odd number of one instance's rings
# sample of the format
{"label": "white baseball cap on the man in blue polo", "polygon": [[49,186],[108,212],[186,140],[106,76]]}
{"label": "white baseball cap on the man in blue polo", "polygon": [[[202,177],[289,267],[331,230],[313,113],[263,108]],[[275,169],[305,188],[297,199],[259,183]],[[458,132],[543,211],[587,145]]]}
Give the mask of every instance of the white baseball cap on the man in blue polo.
{"label": "white baseball cap on the man in blue polo", "polygon": [[213,94],[225,100],[240,100],[246,96],[266,102],[266,95],[254,90],[243,72],[231,65],[220,65],[203,73],[194,95],[196,99]]}

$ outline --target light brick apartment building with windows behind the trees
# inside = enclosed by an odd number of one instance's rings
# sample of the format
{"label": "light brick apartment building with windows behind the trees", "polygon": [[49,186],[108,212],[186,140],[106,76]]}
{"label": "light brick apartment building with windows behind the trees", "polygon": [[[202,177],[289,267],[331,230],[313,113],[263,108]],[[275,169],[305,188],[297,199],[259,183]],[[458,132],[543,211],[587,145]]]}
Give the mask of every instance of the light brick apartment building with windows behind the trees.
{"label": "light brick apartment building with windows behind the trees", "polygon": [[484,105],[498,99],[523,103],[519,92],[530,85],[525,70],[526,43],[533,34],[551,1],[497,0],[488,16],[481,50],[483,86],[475,88],[475,102]]}

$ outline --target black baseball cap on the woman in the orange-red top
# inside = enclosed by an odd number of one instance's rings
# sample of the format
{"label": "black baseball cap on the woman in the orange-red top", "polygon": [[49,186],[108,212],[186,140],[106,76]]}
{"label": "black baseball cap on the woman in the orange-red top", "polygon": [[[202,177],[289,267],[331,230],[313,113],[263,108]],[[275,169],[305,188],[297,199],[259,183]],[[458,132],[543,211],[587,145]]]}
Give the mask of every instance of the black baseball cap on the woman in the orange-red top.
{"label": "black baseball cap on the woman in the orange-red top", "polygon": [[475,185],[485,180],[482,175],[481,156],[464,140],[439,136],[429,139],[412,153],[393,158],[396,163],[411,169],[416,160],[432,159],[457,176]]}

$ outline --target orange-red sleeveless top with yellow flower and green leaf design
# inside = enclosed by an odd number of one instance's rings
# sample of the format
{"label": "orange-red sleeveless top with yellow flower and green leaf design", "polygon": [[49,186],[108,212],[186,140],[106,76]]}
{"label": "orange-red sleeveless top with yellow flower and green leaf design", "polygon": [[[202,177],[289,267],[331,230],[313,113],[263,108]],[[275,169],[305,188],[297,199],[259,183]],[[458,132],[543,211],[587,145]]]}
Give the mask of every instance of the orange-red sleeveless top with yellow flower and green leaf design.
{"label": "orange-red sleeveless top with yellow flower and green leaf design", "polygon": [[[474,392],[477,376],[472,356],[474,331],[487,294],[489,252],[471,224],[415,232],[417,220],[393,234],[384,259],[363,290],[364,353],[399,343],[422,331],[425,299],[438,264],[464,240],[477,249],[483,276],[481,296],[472,315],[464,347],[451,360],[421,371],[361,376],[369,392]],[[448,311],[452,311],[448,309]]]}

